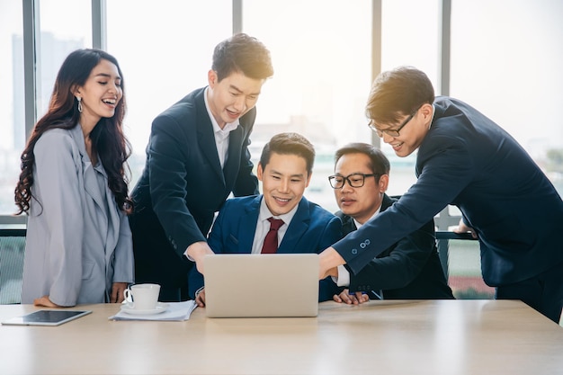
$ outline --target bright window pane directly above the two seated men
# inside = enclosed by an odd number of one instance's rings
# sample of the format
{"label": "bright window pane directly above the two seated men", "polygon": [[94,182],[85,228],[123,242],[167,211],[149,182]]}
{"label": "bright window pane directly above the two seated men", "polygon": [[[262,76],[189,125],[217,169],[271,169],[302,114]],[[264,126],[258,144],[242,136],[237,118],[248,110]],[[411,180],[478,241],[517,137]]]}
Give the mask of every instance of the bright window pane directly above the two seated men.
{"label": "bright window pane directly above the two seated men", "polygon": [[336,210],[327,176],[335,149],[371,142],[364,107],[371,85],[371,2],[243,2],[243,31],[272,52],[274,75],[256,105],[252,156],[276,133],[303,134],[317,151],[305,195]]}

